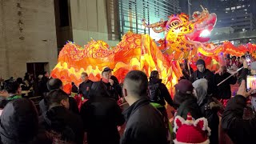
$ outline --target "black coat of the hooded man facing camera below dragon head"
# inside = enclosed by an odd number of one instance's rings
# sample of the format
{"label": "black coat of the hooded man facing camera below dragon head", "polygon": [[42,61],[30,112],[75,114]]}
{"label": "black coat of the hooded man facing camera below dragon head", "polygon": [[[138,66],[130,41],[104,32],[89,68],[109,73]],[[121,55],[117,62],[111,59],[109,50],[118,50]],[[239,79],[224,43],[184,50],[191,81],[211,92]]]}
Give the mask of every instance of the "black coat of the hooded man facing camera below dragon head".
{"label": "black coat of the hooded man facing camera below dragon head", "polygon": [[214,74],[208,69],[204,70],[203,73],[201,73],[199,70],[196,70],[192,74],[190,81],[194,82],[201,78],[206,78],[208,81],[208,90],[207,90],[208,94],[214,94],[214,90],[216,87],[215,86],[216,84],[214,83]]}

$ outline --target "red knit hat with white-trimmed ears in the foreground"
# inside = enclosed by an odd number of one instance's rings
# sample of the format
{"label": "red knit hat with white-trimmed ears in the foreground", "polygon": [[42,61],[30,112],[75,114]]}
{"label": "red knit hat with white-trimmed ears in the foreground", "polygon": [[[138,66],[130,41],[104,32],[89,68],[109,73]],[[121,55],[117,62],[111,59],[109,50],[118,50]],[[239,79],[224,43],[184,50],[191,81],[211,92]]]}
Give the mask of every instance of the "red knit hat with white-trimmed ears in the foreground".
{"label": "red knit hat with white-trimmed ears in the foreground", "polygon": [[190,113],[186,120],[180,116],[174,119],[174,133],[176,138],[174,144],[209,144],[210,128],[206,118],[193,120]]}

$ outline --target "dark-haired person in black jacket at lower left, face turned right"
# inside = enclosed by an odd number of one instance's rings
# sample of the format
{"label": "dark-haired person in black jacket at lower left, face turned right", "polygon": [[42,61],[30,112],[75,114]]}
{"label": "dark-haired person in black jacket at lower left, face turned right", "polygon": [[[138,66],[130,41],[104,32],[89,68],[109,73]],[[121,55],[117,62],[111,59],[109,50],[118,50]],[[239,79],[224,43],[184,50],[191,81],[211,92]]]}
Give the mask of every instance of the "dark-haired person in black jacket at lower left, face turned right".
{"label": "dark-haired person in black jacket at lower left, face turned right", "polygon": [[69,95],[61,89],[51,90],[46,96],[46,101],[49,110],[40,117],[40,126],[52,135],[60,135],[64,142],[82,144],[84,135],[82,119],[68,110]]}

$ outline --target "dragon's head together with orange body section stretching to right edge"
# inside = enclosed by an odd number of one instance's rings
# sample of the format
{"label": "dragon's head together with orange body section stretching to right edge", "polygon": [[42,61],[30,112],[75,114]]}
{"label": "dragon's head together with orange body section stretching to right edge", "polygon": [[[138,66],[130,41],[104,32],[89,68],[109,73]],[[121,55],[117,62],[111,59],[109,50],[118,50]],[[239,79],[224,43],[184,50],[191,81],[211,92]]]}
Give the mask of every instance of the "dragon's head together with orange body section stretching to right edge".
{"label": "dragon's head together with orange body section stretching to right edge", "polygon": [[[209,14],[208,10],[202,7],[202,12],[196,11],[192,15],[193,19],[189,20],[186,14],[172,14],[168,21],[161,20],[154,24],[143,26],[150,27],[156,33],[165,33],[165,38],[158,41],[161,44],[159,49],[173,60],[188,58],[190,62],[196,62],[198,58],[207,59],[208,64],[218,64],[219,54],[231,54],[241,56],[250,51],[255,57],[256,46],[247,44],[246,46],[234,46],[231,42],[224,42],[223,45],[214,45],[207,43],[210,38],[205,36],[210,34],[214,29],[217,21],[216,14]],[[216,65],[218,66],[218,65]],[[216,69],[217,67],[210,67]]]}

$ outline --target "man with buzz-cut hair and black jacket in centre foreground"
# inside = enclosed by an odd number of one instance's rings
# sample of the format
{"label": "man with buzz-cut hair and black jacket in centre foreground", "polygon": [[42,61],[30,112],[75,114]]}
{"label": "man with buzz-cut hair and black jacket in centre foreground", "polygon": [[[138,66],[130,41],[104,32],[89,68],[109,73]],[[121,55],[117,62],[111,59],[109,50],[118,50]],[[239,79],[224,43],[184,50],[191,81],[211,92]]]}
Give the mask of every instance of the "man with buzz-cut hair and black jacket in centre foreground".
{"label": "man with buzz-cut hair and black jacket in centre foreground", "polygon": [[145,73],[132,70],[126,74],[122,91],[130,107],[123,112],[127,123],[120,144],[167,143],[162,114],[150,105],[147,88]]}

